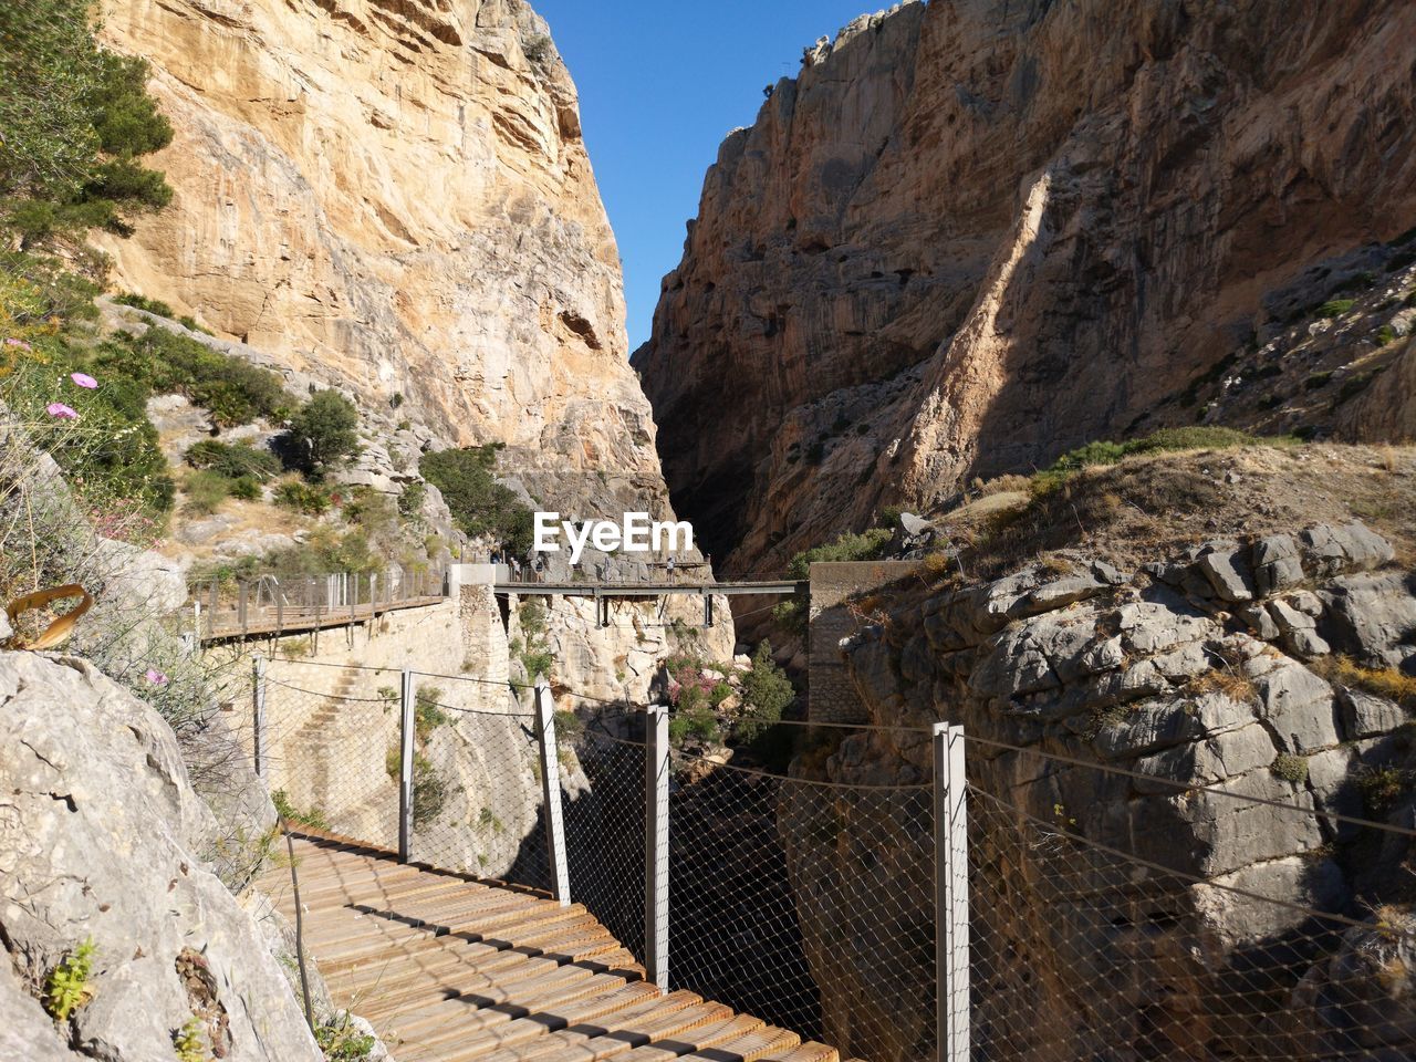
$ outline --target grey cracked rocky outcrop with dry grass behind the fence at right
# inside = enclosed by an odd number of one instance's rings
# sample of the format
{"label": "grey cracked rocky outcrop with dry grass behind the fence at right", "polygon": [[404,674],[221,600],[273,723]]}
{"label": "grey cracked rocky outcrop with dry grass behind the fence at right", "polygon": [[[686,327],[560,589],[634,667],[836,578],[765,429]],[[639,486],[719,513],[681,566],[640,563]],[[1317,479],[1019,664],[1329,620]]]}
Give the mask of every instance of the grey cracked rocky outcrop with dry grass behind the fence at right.
{"label": "grey cracked rocky outcrop with dry grass behind the fence at right", "polygon": [[[1359,523],[1211,539],[1134,572],[1068,551],[926,593],[844,643],[858,722],[949,719],[974,739],[973,1021],[990,1054],[1416,1046],[1395,961],[1405,944],[1341,946],[1341,925],[1306,913],[1361,920],[1412,899],[1406,838],[1317,814],[1409,823],[1409,783],[1391,794],[1371,783],[1409,779],[1416,750],[1410,705],[1379,681],[1416,668],[1416,583],[1392,558]],[[929,742],[851,735],[826,775],[916,783],[930,776]],[[794,843],[811,851],[823,814],[783,807],[797,895],[854,881],[867,858],[891,868],[888,898],[851,908],[850,932],[901,954],[908,927],[932,919],[927,891],[910,885],[930,879],[927,838],[902,837],[889,800],[861,800],[834,826],[834,855],[793,857]],[[927,1020],[871,1010],[872,973],[854,969],[864,960],[823,910],[803,912],[803,937],[838,1025],[828,1035],[848,1045],[865,1029],[891,1058],[918,1056]],[[929,969],[898,976],[927,983]],[[1348,1038],[1376,1012],[1381,1028]]]}

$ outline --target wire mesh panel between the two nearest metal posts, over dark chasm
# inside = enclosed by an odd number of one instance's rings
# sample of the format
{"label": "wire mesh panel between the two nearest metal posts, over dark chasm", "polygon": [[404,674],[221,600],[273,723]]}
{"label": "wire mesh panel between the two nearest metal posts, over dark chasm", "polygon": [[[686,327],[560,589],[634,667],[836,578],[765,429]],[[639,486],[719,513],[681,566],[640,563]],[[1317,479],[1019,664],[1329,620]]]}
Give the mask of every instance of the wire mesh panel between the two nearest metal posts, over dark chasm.
{"label": "wire mesh panel between the two nearest metal posts, over dark chasm", "polygon": [[673,755],[671,986],[851,1056],[932,1056],[930,783],[813,777],[784,724],[755,748],[776,755]]}

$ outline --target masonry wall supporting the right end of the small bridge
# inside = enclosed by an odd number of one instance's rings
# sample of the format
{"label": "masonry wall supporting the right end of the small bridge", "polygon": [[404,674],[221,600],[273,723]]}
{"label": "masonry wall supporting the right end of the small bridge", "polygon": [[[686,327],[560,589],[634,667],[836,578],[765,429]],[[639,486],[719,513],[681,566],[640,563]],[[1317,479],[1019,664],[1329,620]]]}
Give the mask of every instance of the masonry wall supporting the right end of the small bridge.
{"label": "masonry wall supporting the right end of the small bridge", "polygon": [[869,722],[865,704],[841,657],[841,641],[861,626],[850,602],[888,586],[918,568],[918,561],[833,561],[811,565],[809,718],[813,722]]}

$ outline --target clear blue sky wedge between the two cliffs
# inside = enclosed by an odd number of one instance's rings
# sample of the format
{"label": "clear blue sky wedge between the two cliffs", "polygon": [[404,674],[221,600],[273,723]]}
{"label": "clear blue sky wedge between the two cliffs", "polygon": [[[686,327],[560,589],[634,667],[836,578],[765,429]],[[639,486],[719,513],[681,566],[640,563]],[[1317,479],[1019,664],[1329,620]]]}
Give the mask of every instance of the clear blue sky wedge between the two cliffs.
{"label": "clear blue sky wedge between the two cliffs", "polygon": [[704,171],[752,125],[762,86],[884,0],[532,0],[581,89],[585,142],[624,259],[630,350],[678,265]]}

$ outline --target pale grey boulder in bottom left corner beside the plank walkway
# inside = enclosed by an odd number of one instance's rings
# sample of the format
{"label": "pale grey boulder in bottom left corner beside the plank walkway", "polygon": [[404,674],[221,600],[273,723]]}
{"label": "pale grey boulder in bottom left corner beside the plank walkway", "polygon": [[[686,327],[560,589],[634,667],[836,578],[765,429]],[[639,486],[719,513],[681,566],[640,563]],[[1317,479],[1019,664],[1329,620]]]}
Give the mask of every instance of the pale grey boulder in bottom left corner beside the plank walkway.
{"label": "pale grey boulder in bottom left corner beside the plank walkway", "polygon": [[[0,1052],[319,1062],[266,939],[204,867],[215,821],[177,742],[92,666],[0,653]],[[35,990],[85,940],[91,997],[59,1025]]]}

